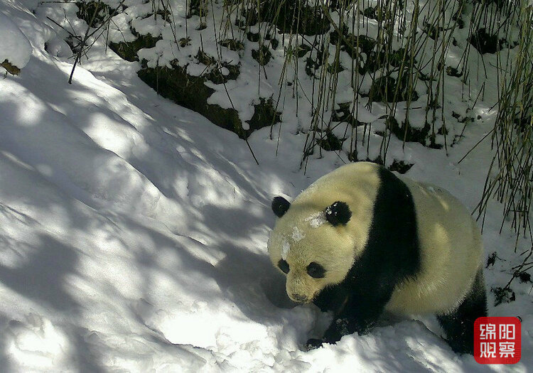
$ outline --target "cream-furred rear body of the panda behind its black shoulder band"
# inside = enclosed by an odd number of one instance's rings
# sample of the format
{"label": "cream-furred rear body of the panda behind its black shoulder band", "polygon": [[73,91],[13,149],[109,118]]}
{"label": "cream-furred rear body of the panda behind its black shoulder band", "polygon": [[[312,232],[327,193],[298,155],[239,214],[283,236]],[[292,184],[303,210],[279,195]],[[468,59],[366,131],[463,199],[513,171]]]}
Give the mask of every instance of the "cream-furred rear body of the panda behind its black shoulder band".
{"label": "cream-furred rear body of the panda behind its black shoulder band", "polygon": [[402,313],[446,313],[470,290],[483,244],[463,204],[436,185],[402,177],[413,196],[421,269],[397,287],[387,308]]}

